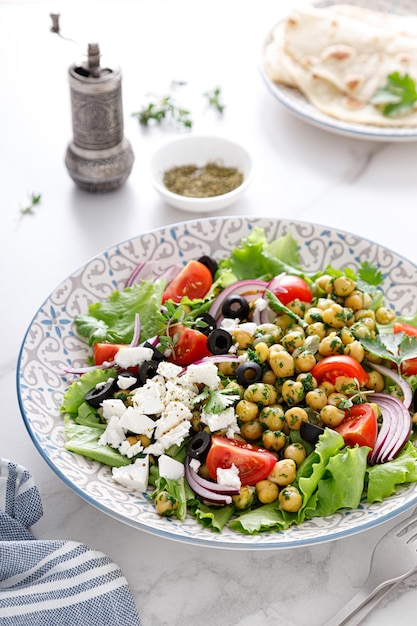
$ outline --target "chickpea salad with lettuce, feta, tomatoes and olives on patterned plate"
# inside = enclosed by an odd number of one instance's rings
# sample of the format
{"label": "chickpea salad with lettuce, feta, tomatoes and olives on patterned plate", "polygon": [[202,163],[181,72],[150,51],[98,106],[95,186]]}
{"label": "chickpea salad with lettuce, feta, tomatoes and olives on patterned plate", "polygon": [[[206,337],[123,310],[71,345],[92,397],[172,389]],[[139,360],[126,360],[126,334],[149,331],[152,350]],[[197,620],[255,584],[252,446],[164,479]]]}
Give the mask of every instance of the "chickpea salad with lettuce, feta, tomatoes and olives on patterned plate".
{"label": "chickpea salad with lettuce, feta, tomatoes and olives on patterned plate", "polygon": [[382,282],[368,262],[308,272],[258,227],[227,258],[140,264],[75,319],[91,357],[67,369],[66,449],[214,532],[383,501],[417,481],[417,317]]}

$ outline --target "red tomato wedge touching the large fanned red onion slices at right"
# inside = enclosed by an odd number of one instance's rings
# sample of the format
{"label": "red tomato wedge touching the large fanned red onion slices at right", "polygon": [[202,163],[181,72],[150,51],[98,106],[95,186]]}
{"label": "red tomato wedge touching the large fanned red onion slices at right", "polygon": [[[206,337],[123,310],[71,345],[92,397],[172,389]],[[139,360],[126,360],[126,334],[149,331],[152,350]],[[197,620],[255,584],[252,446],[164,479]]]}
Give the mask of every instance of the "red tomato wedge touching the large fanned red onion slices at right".
{"label": "red tomato wedge touching the large fanned red onion slices at right", "polygon": [[376,413],[371,404],[355,404],[346,411],[343,422],[334,428],[342,435],[346,446],[368,446],[374,449],[378,435]]}

